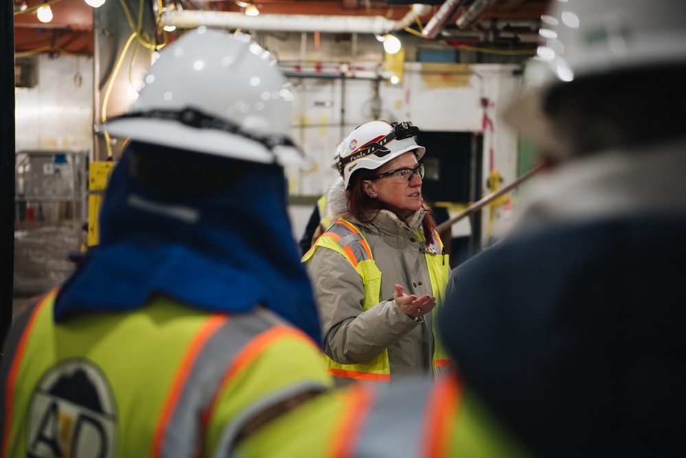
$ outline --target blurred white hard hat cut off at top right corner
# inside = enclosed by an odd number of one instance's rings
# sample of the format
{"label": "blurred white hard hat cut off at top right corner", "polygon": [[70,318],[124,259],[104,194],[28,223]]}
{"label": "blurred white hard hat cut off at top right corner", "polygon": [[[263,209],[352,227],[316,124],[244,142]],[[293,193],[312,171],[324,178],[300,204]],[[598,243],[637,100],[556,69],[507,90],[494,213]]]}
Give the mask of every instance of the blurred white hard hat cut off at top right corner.
{"label": "blurred white hard hat cut off at top right corner", "polygon": [[538,62],[530,69],[535,73],[529,72],[523,97],[503,118],[526,137],[553,142],[542,110],[551,89],[686,62],[685,18],[685,0],[552,0],[549,14],[541,18]]}

